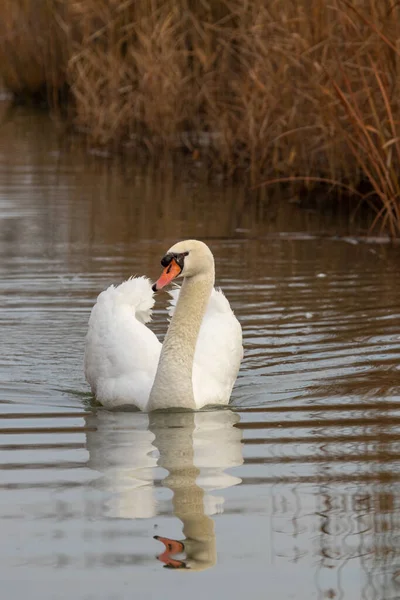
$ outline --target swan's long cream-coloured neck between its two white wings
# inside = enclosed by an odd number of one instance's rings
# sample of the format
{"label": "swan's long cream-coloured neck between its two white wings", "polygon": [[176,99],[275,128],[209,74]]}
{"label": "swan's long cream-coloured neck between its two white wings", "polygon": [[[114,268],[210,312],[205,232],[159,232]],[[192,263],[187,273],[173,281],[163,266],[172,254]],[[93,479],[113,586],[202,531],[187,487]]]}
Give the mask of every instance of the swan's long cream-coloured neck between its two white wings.
{"label": "swan's long cream-coloured neck between its two white wings", "polygon": [[184,279],[174,316],[162,346],[149,410],[196,408],[193,360],[201,322],[214,286],[214,269]]}

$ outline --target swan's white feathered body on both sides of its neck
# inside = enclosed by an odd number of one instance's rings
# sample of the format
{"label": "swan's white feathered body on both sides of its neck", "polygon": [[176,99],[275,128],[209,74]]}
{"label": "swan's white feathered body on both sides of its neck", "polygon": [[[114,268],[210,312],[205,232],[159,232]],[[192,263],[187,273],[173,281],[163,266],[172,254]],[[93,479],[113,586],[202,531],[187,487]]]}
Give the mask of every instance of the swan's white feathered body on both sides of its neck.
{"label": "swan's white feathered body on both sides of its neck", "polygon": [[[170,291],[173,315],[180,288]],[[147,410],[161,343],[145,325],[154,305],[146,277],[110,286],[97,298],[89,319],[85,375],[107,408],[134,405]],[[196,408],[227,404],[243,357],[242,330],[228,300],[213,289],[195,347],[193,395]]]}

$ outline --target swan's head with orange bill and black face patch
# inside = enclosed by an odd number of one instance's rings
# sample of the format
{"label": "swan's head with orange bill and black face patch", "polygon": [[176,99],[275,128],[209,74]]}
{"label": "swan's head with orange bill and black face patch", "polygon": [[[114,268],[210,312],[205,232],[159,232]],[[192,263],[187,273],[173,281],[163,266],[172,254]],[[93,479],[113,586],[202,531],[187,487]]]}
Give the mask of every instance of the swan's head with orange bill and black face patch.
{"label": "swan's head with orange bill and black face patch", "polygon": [[164,270],[153,285],[154,292],[178,277],[194,277],[214,272],[214,257],[204,242],[186,240],[174,244],[161,259],[161,265]]}

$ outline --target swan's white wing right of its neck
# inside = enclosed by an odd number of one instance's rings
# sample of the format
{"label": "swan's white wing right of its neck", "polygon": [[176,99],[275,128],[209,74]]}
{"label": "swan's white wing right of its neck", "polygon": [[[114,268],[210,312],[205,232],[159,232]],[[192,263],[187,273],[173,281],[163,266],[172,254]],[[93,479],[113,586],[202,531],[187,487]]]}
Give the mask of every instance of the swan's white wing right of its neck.
{"label": "swan's white wing right of its neck", "polygon": [[[180,288],[170,291],[172,316]],[[242,328],[221,290],[213,289],[204,315],[193,365],[197,408],[228,404],[243,358]]]}

